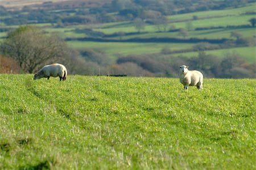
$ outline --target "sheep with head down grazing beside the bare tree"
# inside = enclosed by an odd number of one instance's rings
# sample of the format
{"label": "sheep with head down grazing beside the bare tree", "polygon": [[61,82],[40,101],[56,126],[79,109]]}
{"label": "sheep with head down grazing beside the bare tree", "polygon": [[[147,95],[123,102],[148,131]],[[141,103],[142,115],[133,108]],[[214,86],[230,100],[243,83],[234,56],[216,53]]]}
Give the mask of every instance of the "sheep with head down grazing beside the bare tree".
{"label": "sheep with head down grazing beside the bare tree", "polygon": [[64,81],[66,80],[67,74],[68,73],[65,66],[59,63],[54,63],[51,65],[43,66],[43,68],[40,69],[38,73],[34,75],[34,80],[44,78],[44,77],[49,79],[50,76],[53,76],[53,77],[59,76],[60,81],[61,79]]}

